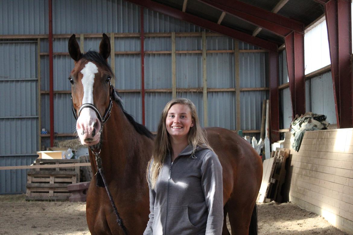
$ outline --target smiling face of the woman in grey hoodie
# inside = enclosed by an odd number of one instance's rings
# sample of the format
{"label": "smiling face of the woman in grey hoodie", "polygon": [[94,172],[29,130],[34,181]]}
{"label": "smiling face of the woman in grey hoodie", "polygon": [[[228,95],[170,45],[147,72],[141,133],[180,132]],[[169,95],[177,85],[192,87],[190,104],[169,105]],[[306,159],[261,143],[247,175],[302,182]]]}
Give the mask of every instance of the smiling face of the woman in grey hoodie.
{"label": "smiling face of the woman in grey hoodie", "polygon": [[170,107],[166,118],[166,128],[171,137],[187,138],[192,126],[194,126],[194,121],[188,105],[175,104]]}

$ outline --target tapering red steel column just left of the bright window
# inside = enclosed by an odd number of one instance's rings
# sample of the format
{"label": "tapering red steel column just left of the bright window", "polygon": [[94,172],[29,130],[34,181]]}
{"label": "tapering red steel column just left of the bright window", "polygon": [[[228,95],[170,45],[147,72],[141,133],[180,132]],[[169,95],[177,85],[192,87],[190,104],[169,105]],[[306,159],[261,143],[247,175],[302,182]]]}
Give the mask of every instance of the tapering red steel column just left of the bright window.
{"label": "tapering red steel column just left of the bright window", "polygon": [[304,35],[292,32],[285,37],[292,118],[305,113]]}

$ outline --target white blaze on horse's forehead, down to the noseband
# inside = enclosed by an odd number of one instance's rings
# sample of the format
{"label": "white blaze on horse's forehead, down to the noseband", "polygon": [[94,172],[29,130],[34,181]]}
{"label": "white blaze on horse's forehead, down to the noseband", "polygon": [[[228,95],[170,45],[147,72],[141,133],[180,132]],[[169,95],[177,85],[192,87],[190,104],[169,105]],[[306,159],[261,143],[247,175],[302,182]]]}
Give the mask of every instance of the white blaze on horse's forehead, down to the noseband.
{"label": "white blaze on horse's forehead, down to the noseband", "polygon": [[81,70],[81,73],[83,74],[83,78],[81,80],[83,85],[82,104],[93,104],[94,75],[98,73],[98,68],[94,63],[88,62]]}

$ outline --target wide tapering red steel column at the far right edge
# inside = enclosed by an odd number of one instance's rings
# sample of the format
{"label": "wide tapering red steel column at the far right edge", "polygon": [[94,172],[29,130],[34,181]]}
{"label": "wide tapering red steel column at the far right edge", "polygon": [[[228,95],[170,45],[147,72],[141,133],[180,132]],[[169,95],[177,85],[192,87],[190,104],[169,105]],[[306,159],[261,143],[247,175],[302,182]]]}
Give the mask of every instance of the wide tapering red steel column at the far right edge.
{"label": "wide tapering red steel column at the far right edge", "polygon": [[331,74],[338,128],[353,127],[351,1],[331,0],[325,4]]}

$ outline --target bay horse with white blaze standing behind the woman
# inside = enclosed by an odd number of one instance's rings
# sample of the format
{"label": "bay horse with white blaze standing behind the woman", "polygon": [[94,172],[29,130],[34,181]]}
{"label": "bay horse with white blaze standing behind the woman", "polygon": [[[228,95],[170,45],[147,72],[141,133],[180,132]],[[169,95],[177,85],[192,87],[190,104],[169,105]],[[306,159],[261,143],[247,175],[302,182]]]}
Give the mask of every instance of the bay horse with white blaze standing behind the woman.
{"label": "bay horse with white blaze standing behind the woman", "polygon": [[[107,63],[110,41],[106,34],[103,33],[99,53],[82,54],[75,35],[68,41],[68,51],[74,60],[69,80],[78,137],[83,145],[101,149],[106,182],[127,233],[142,234],[149,219],[145,173],[152,152],[152,134],[123,109],[121,99],[111,85],[114,73]],[[206,128],[205,131],[223,167],[222,234],[230,234],[227,214],[232,234],[257,234],[256,198],[262,180],[259,155],[233,131],[223,128]],[[89,155],[92,172],[96,174],[92,150]],[[93,177],[86,203],[91,234],[123,234],[106,190],[97,187],[96,183]]]}

